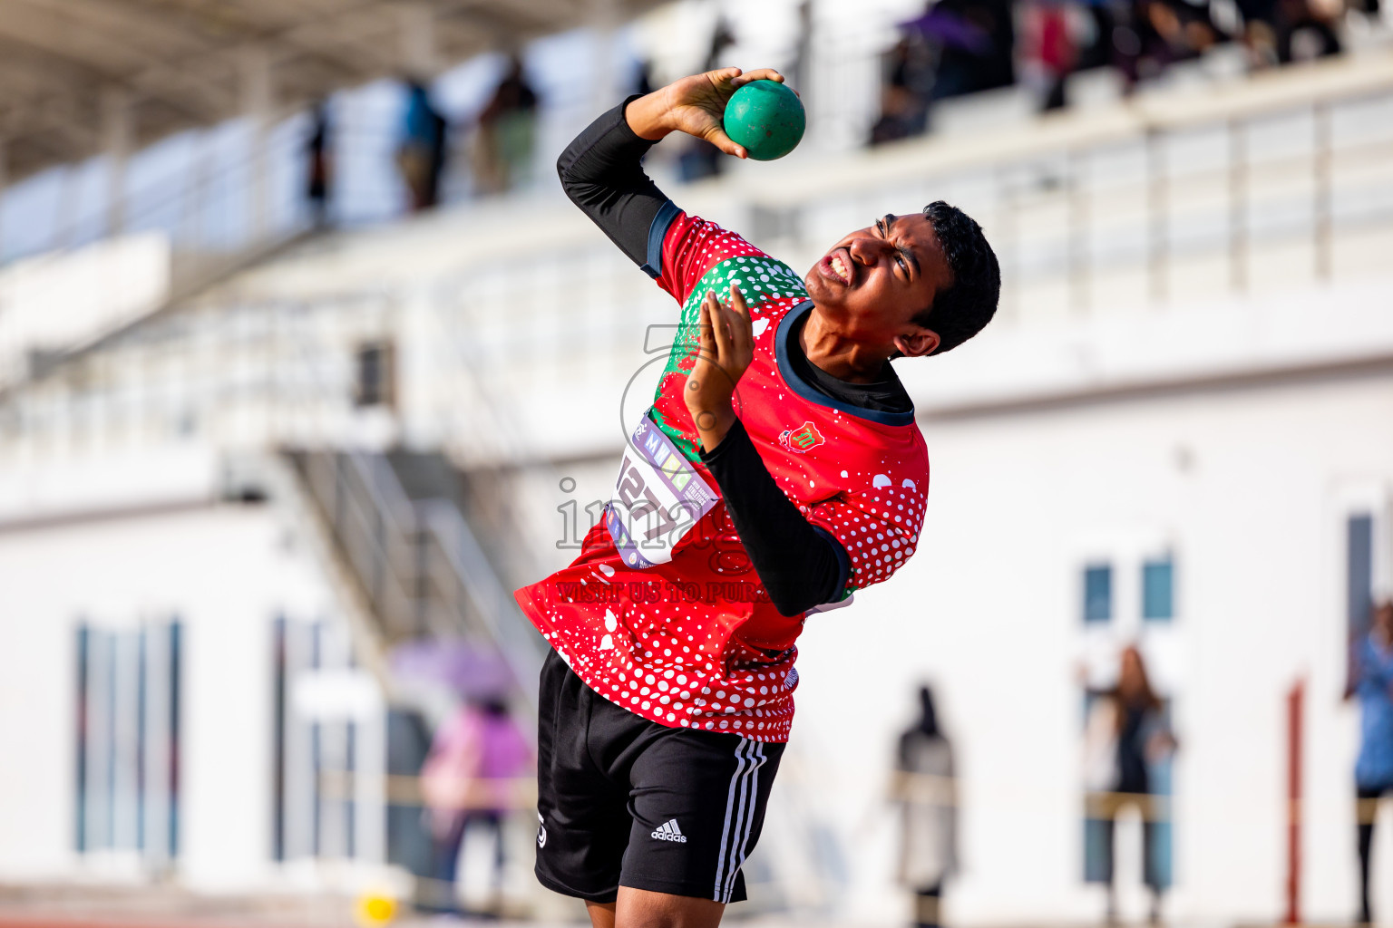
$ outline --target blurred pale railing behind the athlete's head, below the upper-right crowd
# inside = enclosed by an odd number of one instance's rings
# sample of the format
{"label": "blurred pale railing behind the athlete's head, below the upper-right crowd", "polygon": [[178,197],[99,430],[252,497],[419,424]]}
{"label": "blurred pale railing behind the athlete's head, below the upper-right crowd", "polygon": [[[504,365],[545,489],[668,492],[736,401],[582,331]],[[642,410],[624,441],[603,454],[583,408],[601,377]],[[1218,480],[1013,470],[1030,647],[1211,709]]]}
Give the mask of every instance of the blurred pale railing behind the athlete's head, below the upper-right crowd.
{"label": "blurred pale railing behind the athlete's head, below the upper-right crowd", "polygon": [[1373,264],[1346,239],[1393,227],[1393,65],[1371,51],[790,167],[736,178],[787,214],[783,252],[836,241],[848,207],[947,199],[986,228],[1009,317],[1325,284]]}

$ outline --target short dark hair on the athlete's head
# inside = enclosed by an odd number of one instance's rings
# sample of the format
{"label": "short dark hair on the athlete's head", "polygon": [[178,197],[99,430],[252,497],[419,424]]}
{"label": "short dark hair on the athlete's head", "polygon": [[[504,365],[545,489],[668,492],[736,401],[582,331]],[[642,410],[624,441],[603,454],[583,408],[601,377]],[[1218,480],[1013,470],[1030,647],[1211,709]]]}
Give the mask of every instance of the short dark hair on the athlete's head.
{"label": "short dark hair on the athlete's head", "polygon": [[942,339],[935,355],[957,348],[992,321],[1002,295],[1002,269],[996,253],[972,217],[943,200],[924,207],[953,269],[953,284],[933,295],[933,303],[914,317],[917,326],[932,328]]}

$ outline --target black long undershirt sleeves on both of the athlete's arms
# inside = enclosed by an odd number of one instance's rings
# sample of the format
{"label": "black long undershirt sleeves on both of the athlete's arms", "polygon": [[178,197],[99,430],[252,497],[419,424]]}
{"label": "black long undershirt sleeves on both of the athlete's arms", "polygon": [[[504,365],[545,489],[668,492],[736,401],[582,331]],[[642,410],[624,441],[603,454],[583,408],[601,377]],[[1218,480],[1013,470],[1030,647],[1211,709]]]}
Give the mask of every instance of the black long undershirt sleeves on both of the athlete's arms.
{"label": "black long undershirt sleeves on both of the athlete's arms", "polygon": [[[660,252],[656,262],[652,255],[655,220],[664,210],[670,213],[671,206],[644,174],[639,161],[653,142],[638,138],[624,120],[630,100],[575,136],[556,170],[571,202],[635,264],[657,277],[662,269]],[[783,494],[745,427],[737,422],[713,452],[702,454],[702,462],[720,487],[726,512],[775,608],[794,616],[836,601],[850,573],[846,551]]]}

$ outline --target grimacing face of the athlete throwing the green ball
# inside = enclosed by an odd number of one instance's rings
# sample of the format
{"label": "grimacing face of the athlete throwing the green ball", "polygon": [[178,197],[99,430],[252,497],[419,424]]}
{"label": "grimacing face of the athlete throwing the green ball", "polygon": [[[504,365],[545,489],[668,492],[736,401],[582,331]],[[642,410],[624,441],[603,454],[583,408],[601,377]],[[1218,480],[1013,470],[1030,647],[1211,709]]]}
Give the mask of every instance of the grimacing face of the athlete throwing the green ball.
{"label": "grimacing face of the athlete throwing the green ball", "polygon": [[808,296],[847,338],[893,345],[911,358],[939,346],[914,321],[953,282],[933,225],[922,213],[883,216],[837,242],[804,278]]}

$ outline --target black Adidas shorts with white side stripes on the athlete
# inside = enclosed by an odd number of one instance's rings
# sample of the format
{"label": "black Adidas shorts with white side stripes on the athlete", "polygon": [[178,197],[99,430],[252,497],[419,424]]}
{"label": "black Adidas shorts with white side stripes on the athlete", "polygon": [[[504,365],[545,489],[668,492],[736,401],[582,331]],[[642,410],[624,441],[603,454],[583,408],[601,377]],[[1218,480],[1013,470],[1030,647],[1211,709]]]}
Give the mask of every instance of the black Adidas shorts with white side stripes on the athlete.
{"label": "black Adidas shorts with white side stripes on the athlete", "polygon": [[591,902],[620,886],[741,902],[783,744],[664,728],[542,668],[536,878]]}

